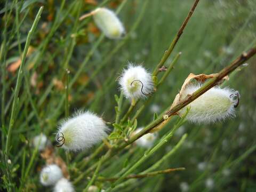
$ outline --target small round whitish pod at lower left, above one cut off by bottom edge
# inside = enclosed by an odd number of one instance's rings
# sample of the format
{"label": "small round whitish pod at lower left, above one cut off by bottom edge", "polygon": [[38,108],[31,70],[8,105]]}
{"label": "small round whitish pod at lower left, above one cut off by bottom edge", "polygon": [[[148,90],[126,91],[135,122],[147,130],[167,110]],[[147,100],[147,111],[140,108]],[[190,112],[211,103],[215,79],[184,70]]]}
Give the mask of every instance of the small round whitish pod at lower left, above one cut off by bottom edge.
{"label": "small round whitish pod at lower left, above one cut off by bottom edge", "polygon": [[62,177],[63,174],[58,165],[47,165],[42,169],[40,173],[40,182],[44,186],[50,186],[54,185]]}

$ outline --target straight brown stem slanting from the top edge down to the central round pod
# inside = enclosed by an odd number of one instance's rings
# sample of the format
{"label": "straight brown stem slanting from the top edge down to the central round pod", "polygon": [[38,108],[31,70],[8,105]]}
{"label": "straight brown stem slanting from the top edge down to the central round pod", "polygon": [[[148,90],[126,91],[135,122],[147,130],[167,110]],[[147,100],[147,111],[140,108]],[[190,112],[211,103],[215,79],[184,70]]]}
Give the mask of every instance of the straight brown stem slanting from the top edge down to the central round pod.
{"label": "straight brown stem slanting from the top edge down to the central round pod", "polygon": [[185,27],[187,26],[187,23],[189,21],[189,19],[191,18],[192,14],[194,13],[196,6],[198,4],[199,0],[196,0],[195,3],[193,4],[193,6],[191,7],[186,19],[183,21],[178,33],[175,35],[171,45],[169,46],[168,50],[165,51],[161,61],[158,63],[158,65],[156,66],[154,72],[153,72],[153,76],[156,76],[159,73],[159,69],[164,65],[165,61],[168,59],[168,57],[170,56],[170,54],[172,53],[175,45],[177,44],[177,42],[179,41],[180,36],[183,33],[183,30],[185,29]]}

